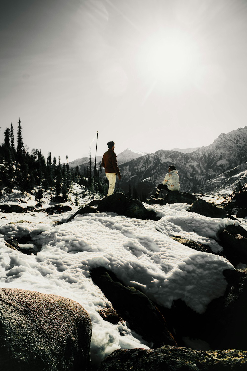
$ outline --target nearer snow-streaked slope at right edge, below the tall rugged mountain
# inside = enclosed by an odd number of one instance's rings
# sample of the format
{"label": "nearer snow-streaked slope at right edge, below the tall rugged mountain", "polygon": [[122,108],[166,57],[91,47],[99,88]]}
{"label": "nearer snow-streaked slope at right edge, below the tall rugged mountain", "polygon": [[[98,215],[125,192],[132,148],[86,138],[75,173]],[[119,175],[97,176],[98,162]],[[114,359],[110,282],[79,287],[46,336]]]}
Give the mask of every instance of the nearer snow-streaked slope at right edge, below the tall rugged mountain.
{"label": "nearer snow-streaked slope at right edge, below the tall rugged mountain", "polygon": [[200,192],[226,196],[236,189],[239,181],[241,185],[247,183],[247,162],[208,180]]}

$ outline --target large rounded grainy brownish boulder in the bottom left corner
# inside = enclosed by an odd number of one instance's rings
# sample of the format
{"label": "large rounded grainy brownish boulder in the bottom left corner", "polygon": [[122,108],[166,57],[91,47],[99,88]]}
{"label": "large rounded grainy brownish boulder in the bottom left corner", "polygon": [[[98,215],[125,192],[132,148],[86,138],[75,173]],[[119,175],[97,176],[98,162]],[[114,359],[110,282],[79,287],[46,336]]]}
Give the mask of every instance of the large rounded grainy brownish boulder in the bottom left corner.
{"label": "large rounded grainy brownish boulder in the bottom left corner", "polygon": [[90,370],[90,340],[90,316],[73,300],[0,289],[1,370]]}

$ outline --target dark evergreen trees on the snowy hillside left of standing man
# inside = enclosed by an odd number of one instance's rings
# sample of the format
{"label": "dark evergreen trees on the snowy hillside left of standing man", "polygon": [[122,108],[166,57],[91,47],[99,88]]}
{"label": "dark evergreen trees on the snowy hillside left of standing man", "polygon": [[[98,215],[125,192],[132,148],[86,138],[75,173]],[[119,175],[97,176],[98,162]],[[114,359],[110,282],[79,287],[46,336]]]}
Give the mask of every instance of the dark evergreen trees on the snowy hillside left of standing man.
{"label": "dark evergreen trees on the snowy hillside left of standing man", "polygon": [[[1,129],[1,128],[0,128]],[[33,193],[40,203],[43,190],[51,194],[62,194],[65,199],[72,192],[72,183],[79,183],[89,188],[93,193],[107,193],[108,182],[101,177],[102,168],[92,169],[91,153],[89,167],[80,174],[79,167],[69,167],[68,156],[66,164],[60,163],[56,157],[51,157],[49,152],[45,158],[41,150],[33,149],[30,153],[23,144],[21,121],[18,121],[16,145],[13,124],[4,133],[4,141],[0,145],[0,189],[12,192],[15,186],[20,187],[22,193]],[[83,194],[81,195],[83,196]],[[76,196],[78,200],[78,195]]]}

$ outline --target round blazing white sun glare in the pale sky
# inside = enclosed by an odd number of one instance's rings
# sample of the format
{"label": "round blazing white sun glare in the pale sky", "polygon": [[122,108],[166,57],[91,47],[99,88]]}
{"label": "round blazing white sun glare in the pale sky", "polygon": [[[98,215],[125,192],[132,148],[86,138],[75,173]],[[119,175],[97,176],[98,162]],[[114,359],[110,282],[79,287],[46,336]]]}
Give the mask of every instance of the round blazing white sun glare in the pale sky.
{"label": "round blazing white sun glare in the pale sky", "polygon": [[196,66],[196,49],[193,39],[182,32],[154,34],[141,45],[138,65],[144,75],[157,82],[187,81]]}

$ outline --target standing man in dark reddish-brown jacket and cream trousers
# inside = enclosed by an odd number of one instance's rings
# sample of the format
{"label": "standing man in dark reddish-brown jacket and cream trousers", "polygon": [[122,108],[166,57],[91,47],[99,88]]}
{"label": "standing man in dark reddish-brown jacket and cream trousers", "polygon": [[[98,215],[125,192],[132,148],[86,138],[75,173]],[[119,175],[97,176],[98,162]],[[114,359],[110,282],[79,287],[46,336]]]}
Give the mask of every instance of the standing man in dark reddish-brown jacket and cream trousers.
{"label": "standing man in dark reddish-brown jacket and cream trousers", "polygon": [[106,170],[106,177],[109,180],[109,189],[107,196],[110,196],[114,192],[116,184],[116,175],[118,175],[119,180],[121,179],[119,168],[117,167],[117,155],[114,152],[115,143],[107,143],[109,150],[104,153],[101,161],[101,166]]}

